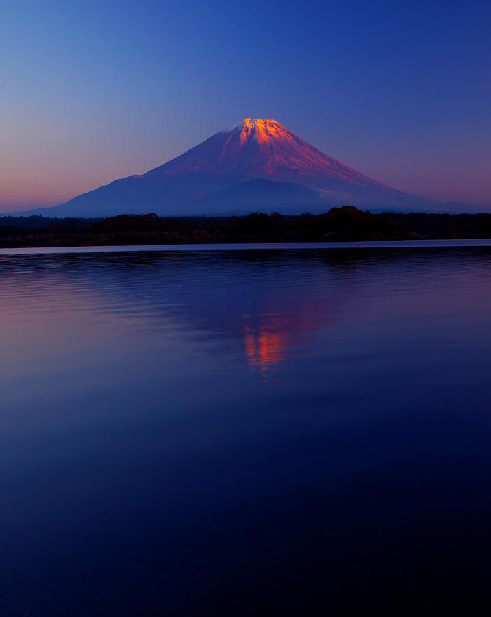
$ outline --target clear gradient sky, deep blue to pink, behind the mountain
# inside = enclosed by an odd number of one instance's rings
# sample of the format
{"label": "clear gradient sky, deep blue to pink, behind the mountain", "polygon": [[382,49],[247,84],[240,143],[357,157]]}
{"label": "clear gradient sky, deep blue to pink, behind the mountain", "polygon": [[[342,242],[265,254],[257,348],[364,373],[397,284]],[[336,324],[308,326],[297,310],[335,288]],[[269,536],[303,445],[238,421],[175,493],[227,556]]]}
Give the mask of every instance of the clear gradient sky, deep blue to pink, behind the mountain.
{"label": "clear gradient sky, deep blue to pink, behind the mountain", "polygon": [[6,0],[0,210],[275,118],[396,189],[491,209],[489,1]]}

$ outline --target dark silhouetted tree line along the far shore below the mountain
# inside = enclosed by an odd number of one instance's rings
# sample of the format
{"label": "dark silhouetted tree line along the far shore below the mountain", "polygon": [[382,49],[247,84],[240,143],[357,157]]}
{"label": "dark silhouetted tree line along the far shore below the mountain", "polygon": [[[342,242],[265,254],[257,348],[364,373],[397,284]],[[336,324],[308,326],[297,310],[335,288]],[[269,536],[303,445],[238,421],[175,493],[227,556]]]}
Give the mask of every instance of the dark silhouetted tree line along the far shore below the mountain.
{"label": "dark silhouetted tree line along the far shore below the mountain", "polygon": [[318,215],[0,217],[0,247],[472,238],[491,238],[491,214],[374,214],[343,206]]}

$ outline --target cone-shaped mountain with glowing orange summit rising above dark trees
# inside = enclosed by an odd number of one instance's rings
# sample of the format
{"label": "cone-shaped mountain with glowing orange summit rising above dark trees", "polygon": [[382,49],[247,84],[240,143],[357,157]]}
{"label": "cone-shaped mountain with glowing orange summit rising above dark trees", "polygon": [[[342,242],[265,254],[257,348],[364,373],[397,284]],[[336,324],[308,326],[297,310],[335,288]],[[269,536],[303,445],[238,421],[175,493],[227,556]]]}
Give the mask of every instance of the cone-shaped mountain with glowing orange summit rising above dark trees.
{"label": "cone-shaped mountain with glowing orange summit rising above dark trees", "polygon": [[246,118],[142,176],[114,180],[61,206],[29,213],[315,213],[342,205],[449,211],[444,204],[396,191],[351,169],[275,120]]}

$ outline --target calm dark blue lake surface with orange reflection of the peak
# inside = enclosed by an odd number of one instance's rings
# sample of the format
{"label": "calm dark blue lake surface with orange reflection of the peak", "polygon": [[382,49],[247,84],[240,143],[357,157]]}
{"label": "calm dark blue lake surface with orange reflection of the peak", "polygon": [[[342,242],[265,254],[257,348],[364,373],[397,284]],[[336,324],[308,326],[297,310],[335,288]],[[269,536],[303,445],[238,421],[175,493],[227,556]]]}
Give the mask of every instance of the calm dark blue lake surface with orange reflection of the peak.
{"label": "calm dark blue lake surface with orange reflection of the peak", "polygon": [[0,615],[488,603],[490,282],[486,246],[3,252]]}

